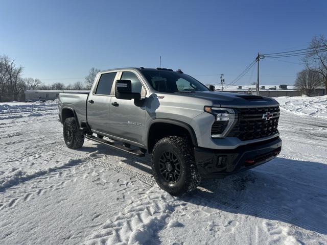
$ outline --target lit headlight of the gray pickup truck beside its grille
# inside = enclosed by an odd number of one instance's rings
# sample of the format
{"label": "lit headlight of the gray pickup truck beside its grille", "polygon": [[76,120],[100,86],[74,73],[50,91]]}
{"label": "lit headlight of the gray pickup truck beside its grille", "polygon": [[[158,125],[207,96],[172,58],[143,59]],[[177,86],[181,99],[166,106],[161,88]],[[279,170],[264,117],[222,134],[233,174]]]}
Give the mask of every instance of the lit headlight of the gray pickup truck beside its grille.
{"label": "lit headlight of the gray pickup truck beside its grille", "polygon": [[235,111],[231,108],[204,106],[203,110],[215,116],[211,128],[212,138],[224,138],[236,122]]}

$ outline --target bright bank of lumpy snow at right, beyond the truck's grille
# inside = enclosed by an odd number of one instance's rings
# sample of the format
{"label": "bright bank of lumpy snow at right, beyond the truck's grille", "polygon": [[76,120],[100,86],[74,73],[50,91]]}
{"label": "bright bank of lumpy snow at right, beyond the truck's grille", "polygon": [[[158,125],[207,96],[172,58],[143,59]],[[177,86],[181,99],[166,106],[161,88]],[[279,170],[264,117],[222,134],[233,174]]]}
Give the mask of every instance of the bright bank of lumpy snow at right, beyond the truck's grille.
{"label": "bright bank of lumpy snow at right, beyond the truck's grille", "polygon": [[300,116],[327,118],[327,95],[316,97],[275,97],[281,109]]}

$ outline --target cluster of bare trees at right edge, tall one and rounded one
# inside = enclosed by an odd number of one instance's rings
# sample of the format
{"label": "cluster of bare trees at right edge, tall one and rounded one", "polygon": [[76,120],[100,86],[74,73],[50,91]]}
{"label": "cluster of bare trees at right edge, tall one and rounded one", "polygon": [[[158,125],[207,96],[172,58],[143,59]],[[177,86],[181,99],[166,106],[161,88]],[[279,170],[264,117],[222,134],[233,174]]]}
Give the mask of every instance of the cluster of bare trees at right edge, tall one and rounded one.
{"label": "cluster of bare trees at right edge, tall one and rounded one", "polygon": [[301,59],[305,68],[297,72],[294,86],[309,96],[319,86],[325,87],[327,93],[327,39],[323,35],[315,36],[308,48],[312,52]]}

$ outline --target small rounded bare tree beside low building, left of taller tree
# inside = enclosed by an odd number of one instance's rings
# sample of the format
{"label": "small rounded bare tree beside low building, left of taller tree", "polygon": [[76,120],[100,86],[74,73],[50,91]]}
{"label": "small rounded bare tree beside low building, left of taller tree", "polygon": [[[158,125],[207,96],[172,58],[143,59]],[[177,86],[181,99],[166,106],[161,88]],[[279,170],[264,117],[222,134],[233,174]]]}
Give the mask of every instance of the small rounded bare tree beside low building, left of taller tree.
{"label": "small rounded bare tree beside low building, left of taller tree", "polygon": [[321,75],[309,69],[303,69],[297,72],[294,86],[301,93],[312,95],[314,88],[321,83]]}

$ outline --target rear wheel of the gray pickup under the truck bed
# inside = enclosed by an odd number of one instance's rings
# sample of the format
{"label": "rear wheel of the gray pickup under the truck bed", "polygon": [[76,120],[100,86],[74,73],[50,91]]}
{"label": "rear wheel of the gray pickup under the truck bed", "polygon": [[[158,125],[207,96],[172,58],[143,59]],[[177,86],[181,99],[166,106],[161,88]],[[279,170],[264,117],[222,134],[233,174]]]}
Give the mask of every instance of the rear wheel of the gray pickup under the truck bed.
{"label": "rear wheel of the gray pickup under the truck bed", "polygon": [[84,132],[77,128],[74,117],[66,118],[63,124],[63,138],[70,149],[78,149],[83,146]]}

